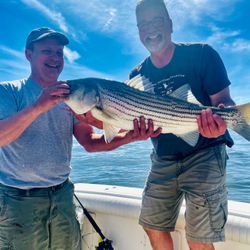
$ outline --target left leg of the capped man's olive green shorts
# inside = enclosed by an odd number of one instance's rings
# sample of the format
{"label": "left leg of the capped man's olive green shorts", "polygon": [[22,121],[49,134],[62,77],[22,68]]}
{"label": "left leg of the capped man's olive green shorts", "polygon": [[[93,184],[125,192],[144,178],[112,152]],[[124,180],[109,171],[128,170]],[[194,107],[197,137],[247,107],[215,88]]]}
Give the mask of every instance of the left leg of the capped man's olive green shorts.
{"label": "left leg of the capped man's olive green shorts", "polygon": [[0,249],[47,249],[49,199],[19,192],[14,188],[0,188]]}

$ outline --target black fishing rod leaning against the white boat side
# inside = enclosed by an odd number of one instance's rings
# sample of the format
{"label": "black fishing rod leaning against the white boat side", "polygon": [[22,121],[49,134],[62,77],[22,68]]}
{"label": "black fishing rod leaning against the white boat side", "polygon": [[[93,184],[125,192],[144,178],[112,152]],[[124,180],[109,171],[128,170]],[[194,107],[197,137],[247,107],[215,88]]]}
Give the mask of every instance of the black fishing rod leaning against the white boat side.
{"label": "black fishing rod leaning against the white boat side", "polygon": [[102,233],[100,227],[97,225],[97,223],[95,222],[95,220],[93,219],[93,217],[90,215],[90,213],[88,212],[88,210],[82,205],[82,203],[80,202],[80,200],[78,199],[78,197],[76,196],[76,194],[74,193],[74,197],[76,198],[76,200],[78,201],[78,203],[80,204],[84,214],[86,215],[86,217],[88,218],[90,224],[93,226],[93,228],[95,229],[95,231],[99,234],[101,241],[98,243],[98,246],[96,247],[96,250],[114,250],[113,246],[112,246],[112,241],[107,239],[104,234]]}

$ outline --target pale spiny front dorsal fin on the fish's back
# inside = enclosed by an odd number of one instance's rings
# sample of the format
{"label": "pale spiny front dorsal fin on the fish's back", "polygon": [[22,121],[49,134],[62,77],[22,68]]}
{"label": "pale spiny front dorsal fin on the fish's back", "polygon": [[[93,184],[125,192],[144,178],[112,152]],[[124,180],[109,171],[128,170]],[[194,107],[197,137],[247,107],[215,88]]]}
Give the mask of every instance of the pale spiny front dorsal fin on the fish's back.
{"label": "pale spiny front dorsal fin on the fish's back", "polygon": [[145,76],[137,75],[124,83],[132,88],[154,93],[154,84]]}

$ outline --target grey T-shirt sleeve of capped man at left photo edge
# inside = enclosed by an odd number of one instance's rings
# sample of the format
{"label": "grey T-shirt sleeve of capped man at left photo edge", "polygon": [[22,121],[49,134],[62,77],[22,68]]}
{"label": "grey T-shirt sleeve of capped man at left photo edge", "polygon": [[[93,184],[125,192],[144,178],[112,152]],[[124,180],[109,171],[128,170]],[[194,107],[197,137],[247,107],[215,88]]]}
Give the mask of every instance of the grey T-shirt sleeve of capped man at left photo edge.
{"label": "grey T-shirt sleeve of capped man at left photo edge", "polygon": [[14,91],[8,83],[0,83],[0,120],[17,113]]}

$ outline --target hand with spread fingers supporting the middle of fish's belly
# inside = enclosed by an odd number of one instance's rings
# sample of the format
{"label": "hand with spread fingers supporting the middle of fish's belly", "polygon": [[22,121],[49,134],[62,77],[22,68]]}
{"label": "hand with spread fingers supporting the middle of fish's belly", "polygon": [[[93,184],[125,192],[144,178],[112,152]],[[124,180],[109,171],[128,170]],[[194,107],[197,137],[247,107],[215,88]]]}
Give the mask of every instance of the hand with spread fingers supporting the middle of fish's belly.
{"label": "hand with spread fingers supporting the middle of fish's belly", "polygon": [[150,137],[157,137],[161,133],[162,129],[158,128],[154,131],[154,123],[151,119],[148,120],[148,124],[145,122],[145,118],[142,116],[138,119],[134,119],[134,130],[128,132],[128,136],[132,137],[133,141],[147,140]]}

